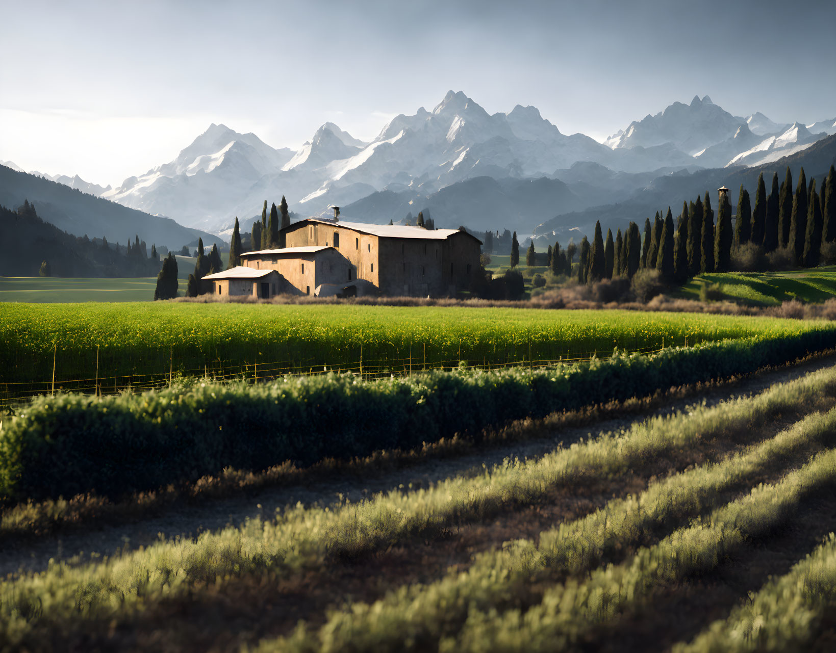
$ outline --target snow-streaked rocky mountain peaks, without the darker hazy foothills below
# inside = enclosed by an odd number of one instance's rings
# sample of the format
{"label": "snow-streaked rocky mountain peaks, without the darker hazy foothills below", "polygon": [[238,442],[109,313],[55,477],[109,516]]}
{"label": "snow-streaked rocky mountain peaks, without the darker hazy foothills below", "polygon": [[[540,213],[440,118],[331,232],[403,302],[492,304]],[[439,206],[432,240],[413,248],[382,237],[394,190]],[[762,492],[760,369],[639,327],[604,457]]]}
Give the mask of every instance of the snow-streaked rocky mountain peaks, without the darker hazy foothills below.
{"label": "snow-streaked rocky mountain peaks, without the darker hazy foothills below", "polygon": [[[329,205],[347,206],[373,194],[423,198],[479,177],[553,179],[555,171],[577,162],[627,175],[667,174],[721,167],[736,158],[746,162],[770,138],[770,152],[809,141],[800,128],[794,140],[782,137],[791,131],[782,125],[780,133],[759,133],[774,126],[763,114],[735,117],[707,96],[695,97],[600,144],[584,134],[563,134],[534,107],[517,104],[508,113],[488,114],[466,94],[450,91],[431,111],[421,107],[395,116],[369,143],[326,123],[293,152],[212,124],[170,163],[130,177],[104,196],[219,232],[236,216],[259,213],[263,200],[282,195],[299,215],[323,215]],[[450,226],[441,214],[436,225]]]}

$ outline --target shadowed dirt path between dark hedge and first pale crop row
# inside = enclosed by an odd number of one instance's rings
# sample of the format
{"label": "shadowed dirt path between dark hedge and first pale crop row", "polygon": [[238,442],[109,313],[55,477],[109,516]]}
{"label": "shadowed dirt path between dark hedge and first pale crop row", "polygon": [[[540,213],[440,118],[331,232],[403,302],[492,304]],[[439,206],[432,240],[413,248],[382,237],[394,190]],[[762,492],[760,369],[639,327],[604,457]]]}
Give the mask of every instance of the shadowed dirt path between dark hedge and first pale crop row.
{"label": "shadowed dirt path between dark hedge and first pale crop row", "polygon": [[0,544],[0,578],[18,570],[45,569],[49,559],[88,559],[90,554],[113,555],[120,550],[137,549],[154,543],[160,537],[195,537],[206,531],[222,529],[227,525],[242,524],[254,517],[269,518],[275,511],[298,502],[303,504],[337,504],[340,497],[359,501],[371,494],[385,492],[403,485],[427,487],[445,478],[451,478],[482,464],[491,466],[505,458],[539,458],[559,444],[568,445],[579,438],[588,438],[601,431],[630,428],[655,415],[665,415],[683,410],[687,406],[706,402],[711,406],[730,397],[742,394],[758,394],[775,383],[787,382],[836,365],[836,355],[803,362],[776,371],[762,372],[741,382],[716,387],[690,397],[672,400],[665,407],[639,415],[611,418],[586,424],[583,427],[559,428],[547,438],[486,448],[461,456],[433,459],[401,468],[395,472],[373,473],[365,478],[340,474],[331,481],[308,483],[307,486],[283,486],[263,488],[247,496],[228,499],[212,499],[197,505],[176,504],[147,519],[132,524],[91,524],[89,529],[64,534],[44,536],[35,542],[8,540]]}

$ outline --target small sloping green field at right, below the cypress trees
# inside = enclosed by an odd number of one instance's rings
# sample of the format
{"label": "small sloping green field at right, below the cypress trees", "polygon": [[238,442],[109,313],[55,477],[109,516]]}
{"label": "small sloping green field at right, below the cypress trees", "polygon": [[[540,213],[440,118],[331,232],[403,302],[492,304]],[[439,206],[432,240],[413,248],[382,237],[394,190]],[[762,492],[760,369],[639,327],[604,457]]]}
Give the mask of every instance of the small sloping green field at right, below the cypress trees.
{"label": "small sloping green field at right, below the cypress trees", "polygon": [[822,302],[836,296],[836,266],[785,272],[700,275],[682,286],[680,296],[699,299],[700,289],[706,283],[721,284],[726,297],[753,306],[777,306],[793,299]]}

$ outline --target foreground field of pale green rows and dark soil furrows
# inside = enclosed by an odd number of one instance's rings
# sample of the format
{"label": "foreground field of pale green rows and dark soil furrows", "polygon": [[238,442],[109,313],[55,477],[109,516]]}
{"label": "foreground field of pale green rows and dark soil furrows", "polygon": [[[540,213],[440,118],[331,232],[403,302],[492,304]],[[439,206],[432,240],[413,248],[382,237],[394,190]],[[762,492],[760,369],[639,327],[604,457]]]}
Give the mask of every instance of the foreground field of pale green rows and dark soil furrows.
{"label": "foreground field of pale green rows and dark soil furrows", "polygon": [[[59,555],[0,581],[0,650],[831,650],[836,368],[614,433],[576,418],[525,460],[477,445],[431,483],[428,448],[356,461],[307,504]],[[66,556],[101,537],[66,534]]]}

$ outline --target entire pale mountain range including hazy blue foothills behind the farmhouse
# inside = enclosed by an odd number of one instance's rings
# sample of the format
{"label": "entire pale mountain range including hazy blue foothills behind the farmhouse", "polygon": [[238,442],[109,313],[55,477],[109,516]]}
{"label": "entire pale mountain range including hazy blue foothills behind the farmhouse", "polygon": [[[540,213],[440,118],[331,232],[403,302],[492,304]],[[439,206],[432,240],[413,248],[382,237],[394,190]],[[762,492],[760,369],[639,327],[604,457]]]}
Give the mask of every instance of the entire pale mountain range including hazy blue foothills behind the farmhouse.
{"label": "entire pale mountain range including hazy blue foothills behind the farmhouse", "polygon": [[303,216],[339,205],[346,219],[388,222],[427,208],[440,227],[524,231],[553,215],[617,202],[664,175],[762,165],[834,133],[836,118],[776,124],[760,113],[733,116],[705,96],[675,102],[601,144],[563,134],[534,107],[488,114],[450,91],[432,111],[396,116],[369,143],[326,123],[293,152],[212,124],[176,159],[118,188],[62,179],[215,232],[282,195]]}

